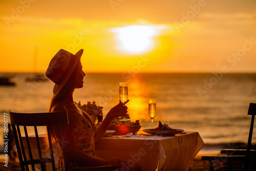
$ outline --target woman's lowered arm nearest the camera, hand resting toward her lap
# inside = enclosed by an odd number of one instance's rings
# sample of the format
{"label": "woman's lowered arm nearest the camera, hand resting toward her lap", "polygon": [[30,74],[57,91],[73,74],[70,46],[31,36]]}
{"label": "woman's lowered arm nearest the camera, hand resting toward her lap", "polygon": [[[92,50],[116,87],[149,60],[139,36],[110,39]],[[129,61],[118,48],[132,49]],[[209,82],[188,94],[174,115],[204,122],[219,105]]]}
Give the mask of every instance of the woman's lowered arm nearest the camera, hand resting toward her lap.
{"label": "woman's lowered arm nearest the camera, hand resting toward her lap", "polygon": [[[52,108],[52,112],[58,112],[58,111],[69,111],[65,108],[64,105],[58,104],[55,105],[54,108]],[[116,167],[121,167],[121,162],[119,160],[105,160],[102,158],[96,158],[91,155],[88,155],[86,153],[83,153],[82,151],[79,151],[75,147],[74,139],[71,132],[71,127],[75,124],[75,116],[72,112],[68,112],[69,116],[69,125],[65,125],[64,132],[66,137],[66,142],[59,141],[60,146],[66,145],[67,148],[67,156],[69,161],[72,161],[77,164],[82,165],[88,165],[88,166],[99,166],[99,165],[113,165]],[[71,126],[71,127],[70,127]],[[61,133],[60,133],[60,127],[59,126],[53,126],[54,134],[57,138],[57,140],[61,140]]]}

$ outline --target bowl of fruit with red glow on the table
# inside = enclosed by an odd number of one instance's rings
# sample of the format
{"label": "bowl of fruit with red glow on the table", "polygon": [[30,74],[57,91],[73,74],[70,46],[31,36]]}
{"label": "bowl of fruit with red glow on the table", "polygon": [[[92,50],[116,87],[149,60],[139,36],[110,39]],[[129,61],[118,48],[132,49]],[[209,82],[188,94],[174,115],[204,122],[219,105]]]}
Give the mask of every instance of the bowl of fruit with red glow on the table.
{"label": "bowl of fruit with red glow on the table", "polygon": [[120,121],[121,118],[117,117],[109,126],[108,130],[113,130],[115,133],[112,135],[125,135],[127,133],[133,133],[136,134],[140,128],[141,124],[139,123],[139,120],[136,120],[135,122],[129,121]]}

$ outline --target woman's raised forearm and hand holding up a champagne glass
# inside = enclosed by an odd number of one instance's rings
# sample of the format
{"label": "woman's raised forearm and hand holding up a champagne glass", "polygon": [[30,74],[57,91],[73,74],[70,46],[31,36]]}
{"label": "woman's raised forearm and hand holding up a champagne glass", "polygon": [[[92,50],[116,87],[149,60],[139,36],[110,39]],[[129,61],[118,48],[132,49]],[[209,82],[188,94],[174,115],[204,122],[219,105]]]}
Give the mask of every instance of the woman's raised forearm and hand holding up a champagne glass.
{"label": "woman's raised forearm and hand holding up a champagne glass", "polygon": [[96,133],[94,136],[95,143],[97,143],[102,138],[102,136],[108,129],[110,123],[112,122],[112,120],[115,117],[119,117],[119,116],[125,117],[126,113],[127,113],[127,106],[123,105],[121,103],[121,101],[119,101],[119,103],[116,106],[114,106],[114,108],[112,108],[108,114],[106,114],[106,117],[103,119],[103,121],[97,127],[97,130],[96,130]]}

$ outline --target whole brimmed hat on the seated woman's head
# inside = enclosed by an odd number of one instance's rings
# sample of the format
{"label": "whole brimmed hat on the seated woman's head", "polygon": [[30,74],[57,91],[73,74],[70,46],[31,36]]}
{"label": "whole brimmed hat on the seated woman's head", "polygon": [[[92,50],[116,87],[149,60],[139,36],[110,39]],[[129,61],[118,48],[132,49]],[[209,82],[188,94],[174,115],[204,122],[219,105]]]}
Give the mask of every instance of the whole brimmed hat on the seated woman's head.
{"label": "whole brimmed hat on the seated woman's head", "polygon": [[75,55],[60,49],[50,61],[46,70],[46,76],[52,80],[55,85],[53,93],[58,93],[68,81],[70,75],[77,66],[82,56],[83,49],[79,50]]}

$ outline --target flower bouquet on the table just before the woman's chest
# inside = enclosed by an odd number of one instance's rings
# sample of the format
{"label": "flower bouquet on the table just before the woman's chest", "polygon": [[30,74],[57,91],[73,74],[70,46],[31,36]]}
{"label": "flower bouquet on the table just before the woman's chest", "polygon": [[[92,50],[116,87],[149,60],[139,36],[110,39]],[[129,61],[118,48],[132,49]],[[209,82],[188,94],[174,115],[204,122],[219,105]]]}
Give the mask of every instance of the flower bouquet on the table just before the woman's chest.
{"label": "flower bouquet on the table just before the woman's chest", "polygon": [[81,102],[79,101],[78,104],[79,108],[81,108],[82,110],[84,110],[88,115],[90,115],[90,117],[93,119],[93,121],[96,121],[96,118],[98,118],[98,122],[102,121],[102,106],[97,106],[96,102],[93,100],[93,102],[91,103],[91,101],[88,101],[87,104],[83,104],[81,105]]}

